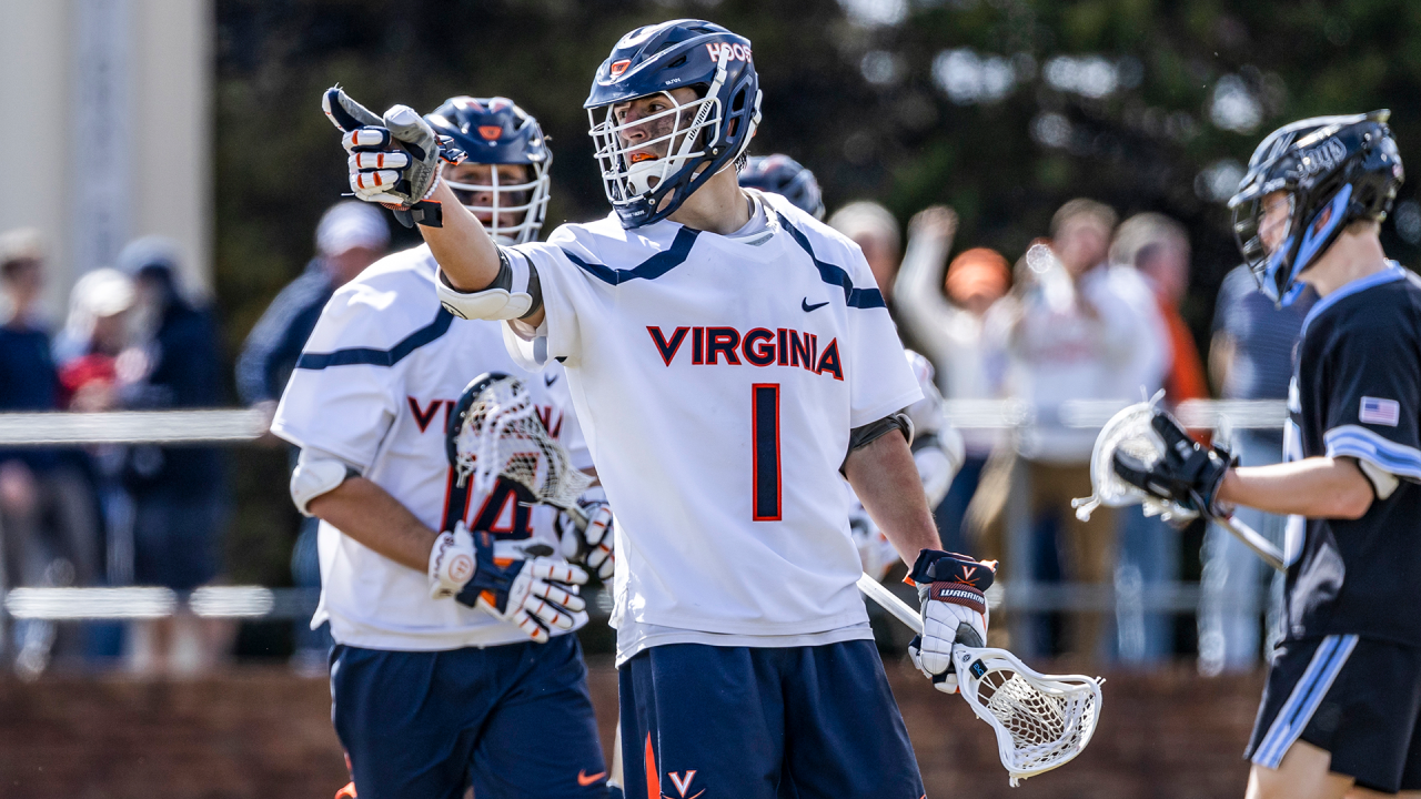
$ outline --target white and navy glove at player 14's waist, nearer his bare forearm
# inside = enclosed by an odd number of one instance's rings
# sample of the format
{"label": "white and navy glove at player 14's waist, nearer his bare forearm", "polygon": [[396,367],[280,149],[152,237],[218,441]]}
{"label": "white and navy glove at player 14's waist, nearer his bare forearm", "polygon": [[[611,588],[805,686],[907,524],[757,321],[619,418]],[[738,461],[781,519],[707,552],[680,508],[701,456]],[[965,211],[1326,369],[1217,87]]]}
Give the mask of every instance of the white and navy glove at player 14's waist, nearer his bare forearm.
{"label": "white and navy glove at player 14's waist, nearer his bare forearm", "polygon": [[429,581],[433,597],[453,596],[460,604],[513,624],[540,644],[547,643],[553,628],[571,630],[587,608],[578,596],[587,572],[551,557],[496,557],[493,536],[470,535],[463,522],[435,542]]}

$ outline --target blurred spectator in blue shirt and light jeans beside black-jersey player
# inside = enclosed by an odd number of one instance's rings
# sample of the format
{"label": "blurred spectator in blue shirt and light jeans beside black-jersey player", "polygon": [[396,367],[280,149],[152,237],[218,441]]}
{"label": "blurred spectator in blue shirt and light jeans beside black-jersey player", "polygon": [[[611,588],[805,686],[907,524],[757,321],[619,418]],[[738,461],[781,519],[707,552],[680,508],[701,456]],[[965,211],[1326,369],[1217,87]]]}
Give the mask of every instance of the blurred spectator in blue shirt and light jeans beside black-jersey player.
{"label": "blurred spectator in blue shirt and light jeans beside black-jersey player", "polygon": [[[1277,307],[1258,287],[1246,266],[1235,267],[1219,287],[1214,311],[1214,340],[1209,344],[1209,371],[1223,400],[1286,400],[1293,372],[1293,347],[1303,317],[1317,301],[1309,287],[1292,306]],[[1222,429],[1221,444],[1228,444],[1246,466],[1277,463],[1283,459],[1283,432],[1269,429]],[[1231,441],[1222,441],[1222,439]],[[1286,519],[1252,508],[1239,508],[1238,519],[1283,543]],[[1199,671],[1219,674],[1253,668],[1259,654],[1276,641],[1260,641],[1259,614],[1263,610],[1263,586],[1273,572],[1232,535],[1209,526],[1204,539],[1204,600],[1199,607]],[[1275,579],[1273,599],[1268,603],[1269,636],[1280,633],[1277,608],[1282,579]]]}

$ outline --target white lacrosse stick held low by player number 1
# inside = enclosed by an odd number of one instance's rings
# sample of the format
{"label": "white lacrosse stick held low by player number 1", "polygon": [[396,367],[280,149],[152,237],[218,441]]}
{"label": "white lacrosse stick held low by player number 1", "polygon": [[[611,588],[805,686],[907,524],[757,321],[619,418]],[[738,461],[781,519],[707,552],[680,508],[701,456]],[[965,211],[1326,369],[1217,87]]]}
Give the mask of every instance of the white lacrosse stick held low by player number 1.
{"label": "white lacrosse stick held low by player number 1", "polygon": [[[864,574],[858,590],[922,634],[918,613],[878,580]],[[1098,677],[1042,674],[1006,650],[983,648],[969,624],[958,627],[952,661],[962,698],[996,732],[1012,788],[1069,763],[1090,744],[1100,721]]]}

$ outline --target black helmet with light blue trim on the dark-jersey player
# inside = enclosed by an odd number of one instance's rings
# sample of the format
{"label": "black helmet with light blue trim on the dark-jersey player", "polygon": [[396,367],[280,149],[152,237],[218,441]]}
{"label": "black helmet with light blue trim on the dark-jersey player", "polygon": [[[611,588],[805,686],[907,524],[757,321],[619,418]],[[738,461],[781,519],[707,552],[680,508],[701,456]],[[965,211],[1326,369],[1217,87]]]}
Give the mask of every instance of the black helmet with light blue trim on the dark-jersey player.
{"label": "black helmet with light blue trim on the dark-jersey player", "polygon": [[[1388,117],[1383,109],[1300,119],[1253,151],[1229,208],[1243,260],[1273,301],[1286,306],[1297,297],[1303,287],[1297,276],[1347,225],[1387,218],[1405,178]],[[1263,198],[1273,192],[1287,192],[1289,215],[1280,243],[1269,250],[1259,227]]]}

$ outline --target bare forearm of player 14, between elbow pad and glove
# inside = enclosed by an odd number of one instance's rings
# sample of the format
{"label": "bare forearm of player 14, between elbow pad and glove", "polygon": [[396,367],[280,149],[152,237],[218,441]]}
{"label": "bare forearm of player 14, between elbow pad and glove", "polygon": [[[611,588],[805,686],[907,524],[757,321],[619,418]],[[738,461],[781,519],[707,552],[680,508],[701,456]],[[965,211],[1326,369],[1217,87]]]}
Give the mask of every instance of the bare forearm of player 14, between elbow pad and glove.
{"label": "bare forearm of player 14, between elbow pad and glove", "polygon": [[385,489],[350,478],[317,496],[307,509],[337,530],[416,572],[429,569],[435,532]]}

